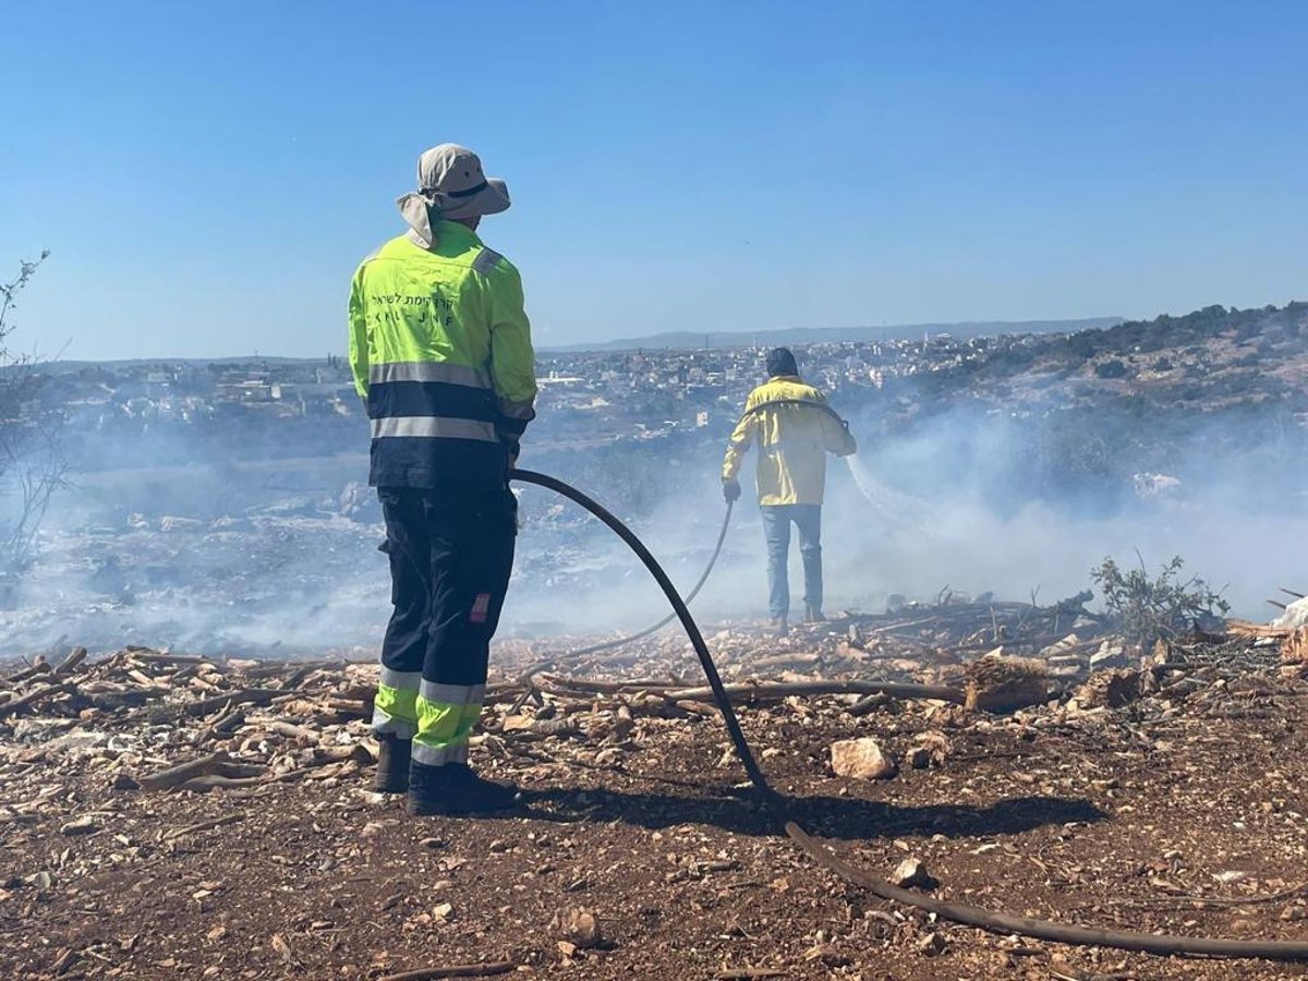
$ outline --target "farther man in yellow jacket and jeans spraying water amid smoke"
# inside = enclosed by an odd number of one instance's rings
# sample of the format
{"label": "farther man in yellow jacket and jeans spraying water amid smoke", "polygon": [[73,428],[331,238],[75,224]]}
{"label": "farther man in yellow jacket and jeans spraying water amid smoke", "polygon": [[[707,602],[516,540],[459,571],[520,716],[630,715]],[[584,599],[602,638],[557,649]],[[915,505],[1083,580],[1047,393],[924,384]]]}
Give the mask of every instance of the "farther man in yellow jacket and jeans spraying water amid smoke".
{"label": "farther man in yellow jacket and jeans spraying water amid smoke", "polygon": [[768,353],[768,381],[749,392],[744,409],[722,463],[722,494],[729,502],[740,497],[736,475],[749,443],[757,442],[755,479],[768,543],[768,613],[777,633],[783,634],[790,615],[786,570],[790,523],[799,530],[804,620],[823,620],[821,504],[827,454],[848,456],[858,447],[849,426],[827,407],[825,396],[799,379],[789,348]]}

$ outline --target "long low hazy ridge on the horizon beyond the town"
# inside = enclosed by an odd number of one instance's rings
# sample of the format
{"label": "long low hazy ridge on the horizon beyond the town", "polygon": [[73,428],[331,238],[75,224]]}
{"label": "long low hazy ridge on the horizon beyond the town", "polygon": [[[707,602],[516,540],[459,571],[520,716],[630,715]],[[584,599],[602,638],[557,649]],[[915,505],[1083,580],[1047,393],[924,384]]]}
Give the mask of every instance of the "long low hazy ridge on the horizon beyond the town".
{"label": "long low hazy ridge on the horizon beyond the town", "polygon": [[994,334],[1075,334],[1122,323],[1121,317],[1087,317],[1079,320],[963,320],[960,323],[908,323],[888,327],[791,327],[777,331],[670,331],[646,337],[623,337],[594,344],[562,344],[542,351],[633,351],[636,348],[743,348],[755,344],[838,344],[849,341],[914,340],[923,334],[980,337]]}

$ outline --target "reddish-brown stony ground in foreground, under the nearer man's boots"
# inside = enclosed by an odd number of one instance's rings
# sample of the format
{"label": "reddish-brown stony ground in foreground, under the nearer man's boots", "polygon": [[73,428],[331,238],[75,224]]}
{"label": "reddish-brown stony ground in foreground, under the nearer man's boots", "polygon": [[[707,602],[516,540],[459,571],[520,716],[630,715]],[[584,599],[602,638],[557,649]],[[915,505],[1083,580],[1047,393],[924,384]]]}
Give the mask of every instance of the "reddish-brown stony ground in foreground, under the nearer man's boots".
{"label": "reddish-brown stony ground in foreground, under the nearer man's boots", "polygon": [[[802,653],[823,644],[785,642],[810,672],[791,679],[827,674]],[[196,684],[194,664],[115,658],[88,672],[89,705],[52,698],[0,721],[0,976],[378,978],[494,961],[568,978],[1308,976],[1308,964],[998,937],[878,900],[777,835],[721,721],[687,702],[545,695],[515,713],[492,698],[475,760],[515,780],[523,807],[411,819],[371,793],[365,752],[306,763],[328,746],[366,748],[365,723],[324,706],[369,668],[286,684],[289,666],[277,691],[294,693],[233,727],[211,725],[222,712],[156,702],[184,705],[204,684],[246,691],[262,668],[204,667]],[[742,719],[802,823],[879,875],[916,857],[944,899],[1308,940],[1308,687],[1274,661],[1274,649],[1266,663],[1218,651],[1116,709],[1065,696],[1011,715],[891,700],[853,714],[854,698],[823,696],[744,706]],[[122,695],[145,683],[154,701]],[[136,705],[95,702],[115,684]],[[275,719],[301,731],[273,731]],[[929,731],[947,751],[922,769],[832,773],[837,739],[874,735],[904,760]],[[139,786],[213,748],[266,769],[209,793]],[[577,908],[596,918],[598,946],[560,940],[552,921]]]}

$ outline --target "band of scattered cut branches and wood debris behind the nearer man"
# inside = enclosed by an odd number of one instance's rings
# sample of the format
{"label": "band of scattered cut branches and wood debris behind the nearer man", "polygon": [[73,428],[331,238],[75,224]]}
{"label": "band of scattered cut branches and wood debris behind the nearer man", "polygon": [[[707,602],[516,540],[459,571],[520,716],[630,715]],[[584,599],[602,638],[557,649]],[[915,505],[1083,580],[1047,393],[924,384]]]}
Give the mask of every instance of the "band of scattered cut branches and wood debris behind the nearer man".
{"label": "band of scattered cut branches and wood debris behind the nearer man", "polygon": [[[710,646],[734,701],[835,700],[854,718],[905,698],[934,705],[944,721],[961,718],[964,705],[1066,713],[1144,696],[1169,704],[1210,691],[1232,668],[1277,663],[1278,641],[1260,636],[1130,651],[1103,633],[1084,600],[942,602],[845,615],[785,638],[722,628]],[[1301,634],[1284,637],[1287,664],[1301,667],[1290,661],[1303,657]],[[494,661],[476,736],[492,759],[530,753],[543,740],[557,756],[555,747],[573,740],[562,756],[576,751],[610,765],[636,747],[638,721],[645,731],[717,714],[678,634],[585,659],[508,642]],[[1092,664],[1105,667],[1091,672]],[[0,776],[18,781],[12,787],[35,787],[0,802],[0,820],[27,820],[48,803],[43,781],[56,786],[50,781],[58,777],[209,791],[358,774],[377,753],[368,731],[375,687],[373,663],[224,661],[145,647],[97,658],[77,647],[58,663],[38,657],[0,680]]]}

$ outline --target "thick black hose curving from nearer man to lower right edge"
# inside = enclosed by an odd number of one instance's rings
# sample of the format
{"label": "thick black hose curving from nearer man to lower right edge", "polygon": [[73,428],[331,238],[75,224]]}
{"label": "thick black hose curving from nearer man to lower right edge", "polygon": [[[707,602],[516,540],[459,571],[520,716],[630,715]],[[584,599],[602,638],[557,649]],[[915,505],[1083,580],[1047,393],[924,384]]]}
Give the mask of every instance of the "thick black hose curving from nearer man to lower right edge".
{"label": "thick black hose curving from nearer man to lower right edge", "polygon": [[713,663],[713,657],[709,654],[709,647],[704,642],[704,637],[700,634],[700,628],[696,625],[695,619],[691,616],[691,611],[687,608],[685,603],[681,602],[681,596],[678,595],[672,581],[667,577],[667,573],[663,572],[663,568],[658,564],[654,556],[650,555],[650,551],[645,547],[645,544],[634,535],[634,532],[632,532],[630,528],[610,514],[608,510],[606,510],[600,504],[556,477],[536,473],[530,470],[514,470],[510,473],[510,477],[513,480],[521,480],[527,484],[548,488],[549,490],[562,494],[569,501],[579,504],[607,525],[613,534],[623,539],[623,542],[625,542],[637,555],[641,562],[644,562],[645,568],[649,569],[654,581],[658,582],[663,594],[667,596],[667,602],[671,603],[672,610],[676,611],[676,616],[680,619],[681,627],[685,629],[685,634],[689,637],[691,644],[695,647],[695,653],[700,658],[700,666],[704,668],[704,675],[709,681],[709,687],[713,689],[713,697],[717,701],[718,710],[722,713],[722,722],[726,725],[727,734],[731,736],[731,744],[735,747],[736,756],[739,756],[746,773],[749,776],[749,782],[753,783],[755,790],[757,790],[760,798],[763,799],[764,807],[768,808],[769,814],[785,829],[786,835],[789,835],[790,838],[799,845],[800,849],[803,849],[804,854],[818,862],[818,865],[835,872],[842,879],[854,883],[855,886],[869,889],[882,899],[901,903],[906,906],[916,906],[917,909],[925,909],[943,917],[944,920],[967,923],[969,926],[976,926],[982,930],[990,930],[1005,935],[1020,934],[1023,937],[1031,937],[1041,940],[1054,940],[1057,943],[1071,943],[1091,947],[1117,947],[1121,950],[1146,951],[1148,954],[1164,955],[1198,954],[1213,957],[1308,960],[1308,942],[1227,940],[1206,937],[1146,934],[1133,930],[1107,930],[1101,927],[1054,923],[1048,920],[1032,920],[1003,912],[995,913],[980,906],[969,906],[961,903],[947,903],[930,896],[922,896],[917,892],[891,886],[888,882],[849,865],[827,845],[814,838],[797,821],[794,821],[789,816],[786,799],[768,783],[768,778],[759,766],[759,763],[753,756],[753,751],[749,748],[749,743],[746,740],[744,732],[740,730],[740,721],[736,718],[735,710],[731,708],[731,700],[722,685],[722,679],[718,675],[717,666]]}

